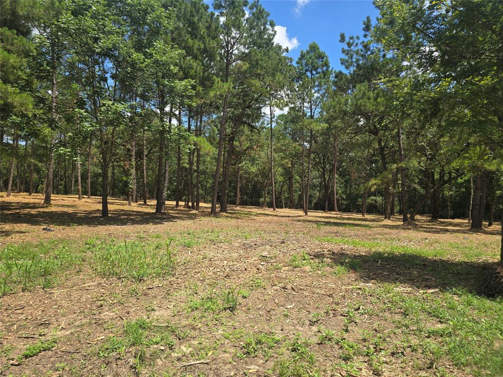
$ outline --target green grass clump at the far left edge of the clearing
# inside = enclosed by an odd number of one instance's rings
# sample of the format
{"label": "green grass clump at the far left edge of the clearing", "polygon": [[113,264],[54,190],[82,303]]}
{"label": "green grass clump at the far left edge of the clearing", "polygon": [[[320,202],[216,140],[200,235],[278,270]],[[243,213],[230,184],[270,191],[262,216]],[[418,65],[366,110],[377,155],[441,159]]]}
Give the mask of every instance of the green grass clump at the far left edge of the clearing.
{"label": "green grass clump at the far left edge of the clearing", "polygon": [[50,288],[78,260],[66,242],[6,245],[0,250],[0,297],[18,289]]}

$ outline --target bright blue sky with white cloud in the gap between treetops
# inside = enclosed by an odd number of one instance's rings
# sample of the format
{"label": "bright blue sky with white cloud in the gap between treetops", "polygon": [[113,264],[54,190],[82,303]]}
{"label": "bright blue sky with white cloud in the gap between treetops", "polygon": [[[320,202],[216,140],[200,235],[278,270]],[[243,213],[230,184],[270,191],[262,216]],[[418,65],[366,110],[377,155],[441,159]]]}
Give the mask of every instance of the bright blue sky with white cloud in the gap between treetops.
{"label": "bright blue sky with white cloud in the gap between treetops", "polygon": [[363,20],[370,16],[374,23],[379,15],[372,1],[366,0],[262,0],[261,4],[277,25],[277,42],[291,47],[291,57],[297,59],[300,50],[315,41],[334,69],[343,69],[341,32],[361,35]]}

